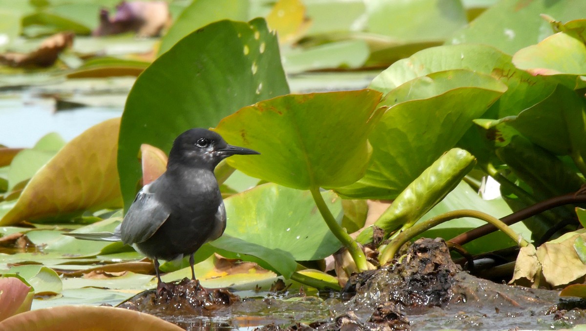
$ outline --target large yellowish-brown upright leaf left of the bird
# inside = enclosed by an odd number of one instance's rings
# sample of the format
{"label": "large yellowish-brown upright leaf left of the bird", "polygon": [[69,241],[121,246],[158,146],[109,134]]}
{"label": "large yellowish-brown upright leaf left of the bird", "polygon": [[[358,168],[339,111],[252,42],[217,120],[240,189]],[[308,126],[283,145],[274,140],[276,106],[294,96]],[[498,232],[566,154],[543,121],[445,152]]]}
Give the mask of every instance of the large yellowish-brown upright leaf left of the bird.
{"label": "large yellowish-brown upright leaf left of the bird", "polygon": [[116,165],[120,118],[94,125],[63,147],[30,179],[1,226],[121,207]]}

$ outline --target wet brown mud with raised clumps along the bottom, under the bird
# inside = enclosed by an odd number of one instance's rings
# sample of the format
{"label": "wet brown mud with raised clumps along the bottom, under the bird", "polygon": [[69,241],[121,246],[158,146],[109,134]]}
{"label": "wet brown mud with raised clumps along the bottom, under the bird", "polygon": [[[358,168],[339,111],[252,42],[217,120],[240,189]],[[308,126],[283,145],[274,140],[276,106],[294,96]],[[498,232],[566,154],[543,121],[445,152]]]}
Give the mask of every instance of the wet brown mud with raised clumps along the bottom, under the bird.
{"label": "wet brown mud with raised clumps along the bottom, under the bird", "polygon": [[171,292],[147,291],[121,306],[186,330],[551,330],[586,323],[586,302],[558,294],[473,277],[452,262],[443,240],[421,238],[400,261],[351,277],[345,294],[240,300],[184,279]]}

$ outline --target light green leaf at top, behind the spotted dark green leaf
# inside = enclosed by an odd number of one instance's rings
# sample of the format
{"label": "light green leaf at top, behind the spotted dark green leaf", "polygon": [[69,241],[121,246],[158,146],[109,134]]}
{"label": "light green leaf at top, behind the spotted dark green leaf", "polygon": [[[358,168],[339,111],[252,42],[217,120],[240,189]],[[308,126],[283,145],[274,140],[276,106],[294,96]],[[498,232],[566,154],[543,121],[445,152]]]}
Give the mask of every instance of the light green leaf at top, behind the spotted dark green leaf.
{"label": "light green leaf at top, behind the spotted dark green leaf", "polygon": [[[248,19],[248,0],[195,0],[179,15],[171,28],[161,39],[159,55],[167,52],[189,33],[216,21],[231,19],[246,21]],[[217,53],[217,56],[228,54]]]}

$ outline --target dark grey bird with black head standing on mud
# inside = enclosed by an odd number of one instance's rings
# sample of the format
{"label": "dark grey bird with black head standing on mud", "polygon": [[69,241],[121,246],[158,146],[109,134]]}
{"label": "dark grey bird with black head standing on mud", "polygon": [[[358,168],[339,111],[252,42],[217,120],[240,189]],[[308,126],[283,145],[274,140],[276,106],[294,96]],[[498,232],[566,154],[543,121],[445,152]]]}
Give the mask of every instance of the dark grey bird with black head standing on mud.
{"label": "dark grey bird with black head standing on mud", "polygon": [[132,245],[153,260],[159,290],[165,287],[159,259],[189,255],[192,279],[196,280],[193,254],[226,229],[226,209],[214,168],[231,155],[253,154],[260,153],[229,145],[216,132],[189,129],[173,141],[165,172],[142,187],[113,233],[66,235]]}

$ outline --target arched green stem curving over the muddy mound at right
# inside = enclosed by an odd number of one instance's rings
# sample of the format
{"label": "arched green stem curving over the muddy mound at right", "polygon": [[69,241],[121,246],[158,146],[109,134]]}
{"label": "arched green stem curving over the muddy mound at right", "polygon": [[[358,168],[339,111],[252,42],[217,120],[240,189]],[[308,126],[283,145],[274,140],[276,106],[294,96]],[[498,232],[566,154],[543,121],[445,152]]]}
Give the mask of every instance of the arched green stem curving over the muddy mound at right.
{"label": "arched green stem curving over the muddy mound at right", "polygon": [[483,213],[482,211],[478,210],[462,209],[449,211],[448,213],[432,217],[427,221],[421,222],[413,227],[407,228],[393,241],[391,241],[391,243],[387,245],[387,247],[383,251],[381,251],[379,258],[380,264],[386,264],[391,258],[395,256],[395,254],[397,254],[399,248],[401,248],[401,246],[407,243],[407,241],[411,240],[411,238],[423,233],[424,231],[429,230],[434,226],[437,226],[438,224],[444,223],[445,221],[461,219],[462,217],[473,217],[475,219],[487,221],[488,223],[499,228],[499,230],[507,234],[507,236],[512,238],[513,241],[515,241],[515,243],[517,243],[520,247],[525,247],[529,245],[529,243],[527,243],[527,241],[524,240],[523,237],[515,233],[515,231],[513,231],[512,228],[508,227],[505,223],[503,223],[503,221],[497,219],[496,217],[490,216],[489,214]]}

